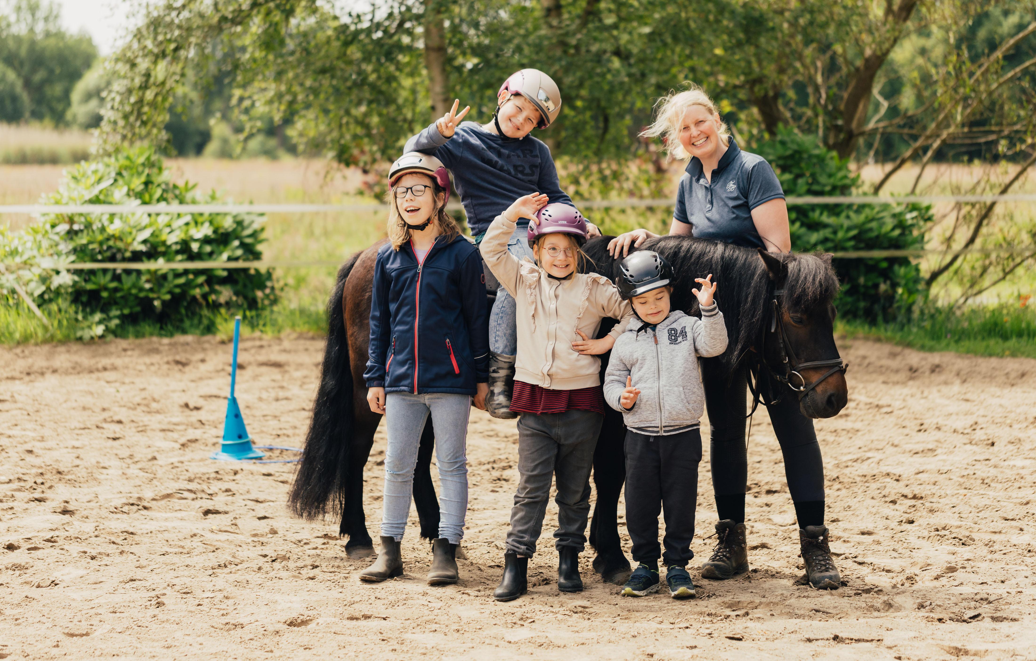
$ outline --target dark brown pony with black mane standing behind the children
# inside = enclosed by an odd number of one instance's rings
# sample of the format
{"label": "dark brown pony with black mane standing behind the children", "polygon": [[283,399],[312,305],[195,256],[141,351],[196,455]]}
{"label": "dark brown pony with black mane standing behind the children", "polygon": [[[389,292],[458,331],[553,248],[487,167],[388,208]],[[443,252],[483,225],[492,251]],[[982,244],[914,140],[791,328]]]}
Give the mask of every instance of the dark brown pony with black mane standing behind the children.
{"label": "dark brown pony with black mane standing behind the children", "polygon": [[[607,253],[611,237],[587,242],[585,250],[593,260],[589,270],[610,278],[617,275],[618,261]],[[313,419],[307,433],[303,459],[289,494],[292,511],[304,518],[340,515],[339,533],[348,536],[346,551],[363,557],[373,551],[367,532],[363,506],[363,471],[370,455],[374,431],[381,416],[367,404],[363,382],[370,333],[371,288],[374,262],[382,242],[353,256],[338,273],[338,280],[327,303],[327,343],[320,375],[320,386],[313,404]],[[829,259],[812,254],[771,256],[738,246],[689,237],[653,239],[643,248],[657,250],[673,266],[673,308],[697,313],[697,301],[691,294],[694,278],[712,273],[720,283],[717,302],[723,310],[729,347],[722,356],[707,359],[711,369],[707,378],[727,378],[744,362],[762,374],[784,374],[787,363],[781,355],[790,355],[802,368],[803,383],[821,380],[830,368],[809,367],[828,363],[837,357],[832,299],[838,280]],[[775,292],[783,291],[776,296]],[[774,301],[777,298],[775,306]],[[777,317],[774,317],[777,314]],[[780,342],[771,326],[777,328]],[[613,323],[602,325],[600,335]],[[782,354],[783,352],[783,354]],[[602,373],[607,355],[602,357]],[[799,372],[796,372],[799,373]],[[799,386],[793,380],[794,386]],[[804,389],[804,386],[803,386]],[[845,379],[835,370],[815,384],[800,399],[803,415],[827,418],[845,405]],[[796,396],[784,383],[771,384],[761,396]],[[622,415],[608,410],[594,455],[594,482],[597,503],[591,524],[589,541],[597,550],[594,568],[606,580],[622,581],[630,571],[623,553],[617,530],[618,497],[626,479],[623,440],[626,428]],[[421,519],[421,535],[438,535],[438,501],[432,485],[430,462],[434,441],[431,420],[421,439],[418,467],[414,471],[413,500]]]}

